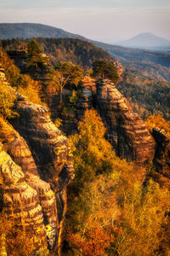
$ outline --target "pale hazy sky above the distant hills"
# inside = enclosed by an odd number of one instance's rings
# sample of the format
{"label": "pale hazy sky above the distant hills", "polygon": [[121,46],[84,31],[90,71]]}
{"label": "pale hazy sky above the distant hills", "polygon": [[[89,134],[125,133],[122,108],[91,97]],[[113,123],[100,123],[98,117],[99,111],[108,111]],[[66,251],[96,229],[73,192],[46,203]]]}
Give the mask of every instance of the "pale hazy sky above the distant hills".
{"label": "pale hazy sky above the distant hills", "polygon": [[33,22],[114,43],[140,32],[170,40],[170,0],[0,0],[0,23]]}

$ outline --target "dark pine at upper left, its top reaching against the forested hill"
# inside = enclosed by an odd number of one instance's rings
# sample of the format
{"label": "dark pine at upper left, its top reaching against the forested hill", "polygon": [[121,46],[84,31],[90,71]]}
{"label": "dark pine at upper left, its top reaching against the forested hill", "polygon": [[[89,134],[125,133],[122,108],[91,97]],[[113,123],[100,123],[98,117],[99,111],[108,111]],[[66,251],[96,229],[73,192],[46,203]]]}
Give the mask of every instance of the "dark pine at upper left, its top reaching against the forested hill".
{"label": "dark pine at upper left, its top reaching against the forested hill", "polygon": [[47,57],[42,56],[42,49],[40,48],[40,45],[37,44],[37,41],[34,39],[31,39],[31,41],[27,44],[27,55],[28,67],[41,67],[47,62]]}

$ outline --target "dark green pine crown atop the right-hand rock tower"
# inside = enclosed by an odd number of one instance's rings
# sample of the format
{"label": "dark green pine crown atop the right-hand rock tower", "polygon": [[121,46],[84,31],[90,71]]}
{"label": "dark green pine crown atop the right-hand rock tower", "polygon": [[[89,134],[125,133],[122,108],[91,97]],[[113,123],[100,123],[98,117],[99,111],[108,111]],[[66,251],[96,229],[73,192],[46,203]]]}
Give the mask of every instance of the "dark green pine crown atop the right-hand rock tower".
{"label": "dark green pine crown atop the right-hand rock tower", "polygon": [[119,78],[116,67],[110,62],[96,60],[93,63],[93,74],[94,77],[100,77],[102,79],[110,79],[111,82],[117,82]]}

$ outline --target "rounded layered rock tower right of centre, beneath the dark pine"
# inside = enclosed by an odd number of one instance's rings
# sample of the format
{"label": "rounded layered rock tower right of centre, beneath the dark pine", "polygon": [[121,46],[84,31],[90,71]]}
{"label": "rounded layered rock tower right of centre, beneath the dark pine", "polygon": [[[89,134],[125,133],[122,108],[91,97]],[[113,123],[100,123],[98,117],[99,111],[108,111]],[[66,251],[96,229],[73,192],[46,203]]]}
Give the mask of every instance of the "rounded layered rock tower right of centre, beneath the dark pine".
{"label": "rounded layered rock tower right of centre, beneath the dark pine", "polygon": [[[92,106],[97,108],[106,127],[106,138],[118,156],[138,163],[152,160],[155,141],[144,121],[133,113],[130,104],[109,80],[100,80],[96,87],[95,94],[89,86],[84,86],[77,113],[84,113]],[[78,116],[81,117],[80,114]]]}

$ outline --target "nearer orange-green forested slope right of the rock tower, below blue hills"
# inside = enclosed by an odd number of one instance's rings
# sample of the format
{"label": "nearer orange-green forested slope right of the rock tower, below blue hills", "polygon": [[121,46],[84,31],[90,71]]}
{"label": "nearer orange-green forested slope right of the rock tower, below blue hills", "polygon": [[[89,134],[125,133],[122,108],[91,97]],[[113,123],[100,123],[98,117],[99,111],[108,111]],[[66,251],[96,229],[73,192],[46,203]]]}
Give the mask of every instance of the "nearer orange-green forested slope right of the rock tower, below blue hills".
{"label": "nearer orange-green forested slope right of the rock tower, below blue hills", "polygon": [[123,81],[117,84],[117,89],[143,118],[156,113],[170,119],[170,83],[153,79],[148,73],[133,67],[126,69]]}

